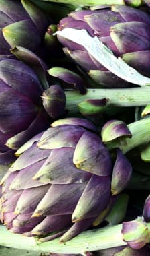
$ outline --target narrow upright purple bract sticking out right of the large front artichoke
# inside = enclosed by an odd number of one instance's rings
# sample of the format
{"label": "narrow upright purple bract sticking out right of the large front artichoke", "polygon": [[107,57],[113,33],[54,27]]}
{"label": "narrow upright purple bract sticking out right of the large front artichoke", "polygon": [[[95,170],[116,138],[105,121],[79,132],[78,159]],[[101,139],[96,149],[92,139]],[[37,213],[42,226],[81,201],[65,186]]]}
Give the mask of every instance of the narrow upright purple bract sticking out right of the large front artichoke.
{"label": "narrow upright purple bract sticking out right of the large front artichoke", "polygon": [[117,158],[112,170],[111,192],[117,195],[127,187],[132,174],[132,166],[126,156],[117,148]]}

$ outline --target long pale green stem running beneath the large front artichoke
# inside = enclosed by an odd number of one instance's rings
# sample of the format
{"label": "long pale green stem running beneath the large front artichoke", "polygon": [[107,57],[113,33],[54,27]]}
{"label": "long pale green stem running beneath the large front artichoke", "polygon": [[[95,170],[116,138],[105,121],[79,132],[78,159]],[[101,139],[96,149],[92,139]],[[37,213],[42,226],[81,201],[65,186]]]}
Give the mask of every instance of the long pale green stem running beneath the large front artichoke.
{"label": "long pale green stem running beneath the large front artichoke", "polygon": [[60,243],[59,238],[39,243],[37,238],[13,234],[5,226],[0,225],[0,245],[39,253],[80,253],[84,255],[86,251],[126,245],[122,238],[121,228],[122,224],[88,230],[66,243]]}

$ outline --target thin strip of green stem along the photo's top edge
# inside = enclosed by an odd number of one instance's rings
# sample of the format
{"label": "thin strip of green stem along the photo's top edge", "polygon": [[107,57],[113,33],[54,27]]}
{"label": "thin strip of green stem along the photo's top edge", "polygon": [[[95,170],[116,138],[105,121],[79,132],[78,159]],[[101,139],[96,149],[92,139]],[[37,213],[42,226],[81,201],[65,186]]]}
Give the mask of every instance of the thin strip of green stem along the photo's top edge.
{"label": "thin strip of green stem along the photo's top edge", "polygon": [[54,3],[67,3],[78,6],[94,6],[94,5],[125,5],[123,0],[44,0]]}

